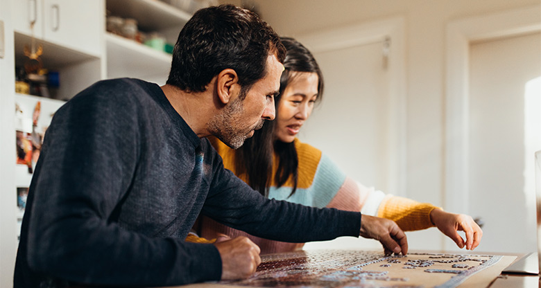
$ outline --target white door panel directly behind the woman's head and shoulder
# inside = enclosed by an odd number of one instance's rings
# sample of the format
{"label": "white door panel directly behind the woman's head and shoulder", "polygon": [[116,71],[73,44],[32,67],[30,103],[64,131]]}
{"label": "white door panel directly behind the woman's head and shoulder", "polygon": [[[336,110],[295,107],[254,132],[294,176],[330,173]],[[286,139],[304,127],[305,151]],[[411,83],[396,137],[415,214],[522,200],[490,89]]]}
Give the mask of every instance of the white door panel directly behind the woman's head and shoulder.
{"label": "white door panel directly behind the woman's head and shoulder", "polygon": [[387,69],[384,42],[314,53],[323,71],[323,102],[300,132],[348,176],[386,190]]}

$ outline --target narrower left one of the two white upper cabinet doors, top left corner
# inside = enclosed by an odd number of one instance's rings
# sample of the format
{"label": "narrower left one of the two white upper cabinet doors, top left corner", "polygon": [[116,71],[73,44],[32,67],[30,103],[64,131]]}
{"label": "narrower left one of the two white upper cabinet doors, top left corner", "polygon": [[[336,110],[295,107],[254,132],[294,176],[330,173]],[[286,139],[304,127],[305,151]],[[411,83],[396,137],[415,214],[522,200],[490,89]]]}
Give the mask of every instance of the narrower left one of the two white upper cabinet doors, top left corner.
{"label": "narrower left one of the two white upper cabinet doors, top left corner", "polygon": [[43,8],[42,0],[12,0],[13,30],[26,35],[32,35],[30,29],[34,21],[34,36],[43,36]]}

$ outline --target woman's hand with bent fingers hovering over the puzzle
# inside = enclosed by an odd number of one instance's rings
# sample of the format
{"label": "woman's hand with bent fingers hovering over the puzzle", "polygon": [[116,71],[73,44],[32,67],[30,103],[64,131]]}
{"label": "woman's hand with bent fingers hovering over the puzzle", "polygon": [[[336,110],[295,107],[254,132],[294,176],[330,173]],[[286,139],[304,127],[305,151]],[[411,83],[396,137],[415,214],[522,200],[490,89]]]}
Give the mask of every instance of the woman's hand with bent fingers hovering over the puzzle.
{"label": "woman's hand with bent fingers hovering over the puzzle", "polygon": [[[430,219],[443,234],[451,238],[458,247],[473,250],[481,242],[483,231],[474,222],[471,216],[464,214],[448,213],[441,209],[434,209],[430,213]],[[456,231],[466,233],[466,241]]]}

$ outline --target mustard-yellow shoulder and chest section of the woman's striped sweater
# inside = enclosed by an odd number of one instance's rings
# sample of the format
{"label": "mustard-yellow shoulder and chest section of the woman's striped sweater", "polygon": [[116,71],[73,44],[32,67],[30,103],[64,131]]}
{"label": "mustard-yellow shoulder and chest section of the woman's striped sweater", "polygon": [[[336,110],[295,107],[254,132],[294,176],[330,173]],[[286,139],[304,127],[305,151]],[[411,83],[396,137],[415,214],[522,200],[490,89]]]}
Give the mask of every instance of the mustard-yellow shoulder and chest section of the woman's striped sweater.
{"label": "mustard-yellow shoulder and chest section of the woman's striped sweater", "polygon": [[[231,170],[237,177],[242,181],[248,182],[246,174],[240,174],[237,171],[237,168],[234,165],[235,161],[235,150],[231,149],[225,145],[222,141],[219,141],[216,137],[208,137],[210,143],[216,149],[218,154],[222,156],[223,167],[227,170]],[[316,175],[316,170],[318,169],[318,164],[321,159],[321,151],[312,147],[309,144],[301,143],[298,139],[295,138],[295,148],[297,150],[297,157],[299,159],[298,166],[298,183],[297,188],[306,189],[312,185],[314,181],[314,175]],[[275,182],[276,171],[278,170],[278,157],[276,154],[273,156],[273,175],[271,185],[276,186]],[[289,179],[284,183],[285,187],[293,187],[293,179]]]}

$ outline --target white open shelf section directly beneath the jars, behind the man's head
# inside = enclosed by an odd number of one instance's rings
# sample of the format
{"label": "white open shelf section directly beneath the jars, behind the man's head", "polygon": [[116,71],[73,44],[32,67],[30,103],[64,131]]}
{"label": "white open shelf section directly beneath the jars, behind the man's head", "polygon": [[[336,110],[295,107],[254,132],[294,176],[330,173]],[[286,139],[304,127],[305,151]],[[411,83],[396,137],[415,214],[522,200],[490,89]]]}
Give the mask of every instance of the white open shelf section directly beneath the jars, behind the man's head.
{"label": "white open shelf section directly beneath the jars, behind the man's head", "polygon": [[130,39],[107,33],[108,78],[162,78],[166,80],[171,68],[171,54],[157,51]]}

